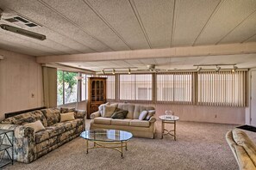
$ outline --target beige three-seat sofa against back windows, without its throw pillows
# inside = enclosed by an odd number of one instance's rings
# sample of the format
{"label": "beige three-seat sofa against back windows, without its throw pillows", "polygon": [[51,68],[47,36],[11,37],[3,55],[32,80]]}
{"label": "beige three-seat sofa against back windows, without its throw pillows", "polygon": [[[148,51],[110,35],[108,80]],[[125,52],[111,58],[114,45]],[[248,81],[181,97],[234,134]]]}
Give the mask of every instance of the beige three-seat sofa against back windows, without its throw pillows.
{"label": "beige three-seat sofa against back windows, without its throw pillows", "polygon": [[90,129],[115,129],[129,131],[134,137],[154,138],[156,118],[151,117],[149,120],[139,120],[141,111],[147,110],[155,113],[153,106],[119,103],[117,107],[128,111],[125,119],[103,118],[99,111],[93,112],[91,114]]}

